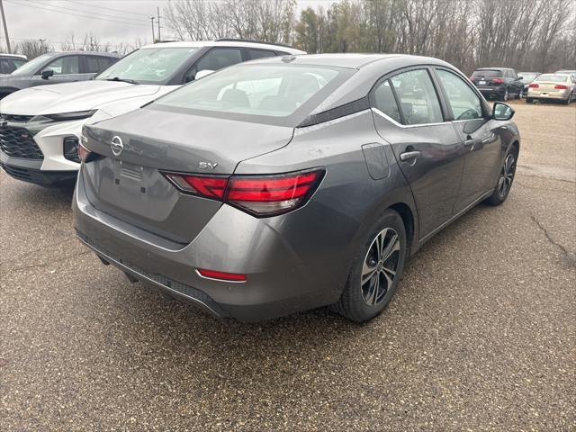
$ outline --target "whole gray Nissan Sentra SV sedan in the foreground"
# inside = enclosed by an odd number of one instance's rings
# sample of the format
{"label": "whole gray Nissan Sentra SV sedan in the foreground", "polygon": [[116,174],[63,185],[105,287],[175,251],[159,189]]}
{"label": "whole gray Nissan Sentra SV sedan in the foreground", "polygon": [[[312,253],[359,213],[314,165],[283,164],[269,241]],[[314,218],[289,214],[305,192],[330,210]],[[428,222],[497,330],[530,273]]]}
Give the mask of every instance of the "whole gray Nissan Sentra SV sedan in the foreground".
{"label": "whole gray Nissan Sentra SV sedan in the foreground", "polygon": [[506,200],[513,114],[433,58],[236,65],[85,125],[74,227],[131,281],[216,316],[370,320],[407,257]]}

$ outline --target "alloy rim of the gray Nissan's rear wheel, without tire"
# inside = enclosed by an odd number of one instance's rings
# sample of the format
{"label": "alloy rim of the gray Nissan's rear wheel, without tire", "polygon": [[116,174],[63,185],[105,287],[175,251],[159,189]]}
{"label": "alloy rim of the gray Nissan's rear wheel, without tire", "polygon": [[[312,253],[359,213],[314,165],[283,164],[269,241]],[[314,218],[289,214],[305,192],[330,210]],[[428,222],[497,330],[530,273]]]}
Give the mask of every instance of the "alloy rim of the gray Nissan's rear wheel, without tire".
{"label": "alloy rim of the gray Nissan's rear wheel, without tire", "polygon": [[385,228],[374,238],[362,266],[361,287],[366,304],[374,306],[392,290],[400,263],[401,243],[398,233]]}

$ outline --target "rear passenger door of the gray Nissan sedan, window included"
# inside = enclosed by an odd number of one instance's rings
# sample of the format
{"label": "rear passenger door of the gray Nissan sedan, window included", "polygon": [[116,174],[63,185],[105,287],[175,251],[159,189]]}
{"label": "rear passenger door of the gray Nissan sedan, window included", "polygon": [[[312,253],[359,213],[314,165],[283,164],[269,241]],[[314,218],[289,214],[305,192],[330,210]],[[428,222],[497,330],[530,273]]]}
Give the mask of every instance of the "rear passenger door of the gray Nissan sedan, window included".
{"label": "rear passenger door of the gray Nissan sedan, window included", "polygon": [[428,67],[384,76],[371,92],[374,124],[391,146],[416,202],[421,238],[454,215],[464,145],[446,121]]}

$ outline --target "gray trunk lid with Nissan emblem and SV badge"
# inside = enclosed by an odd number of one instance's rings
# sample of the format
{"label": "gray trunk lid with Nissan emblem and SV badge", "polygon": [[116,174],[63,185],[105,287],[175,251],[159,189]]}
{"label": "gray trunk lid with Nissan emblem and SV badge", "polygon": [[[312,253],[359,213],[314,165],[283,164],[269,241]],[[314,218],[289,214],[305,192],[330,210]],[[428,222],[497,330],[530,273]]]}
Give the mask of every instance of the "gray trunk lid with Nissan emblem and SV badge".
{"label": "gray trunk lid with Nissan emblem and SV badge", "polygon": [[181,193],[164,174],[229,176],[238,162],[284,147],[293,128],[145,108],[86,127],[85,137],[85,147],[102,156],[83,167],[94,207],[188,243],[221,202]]}

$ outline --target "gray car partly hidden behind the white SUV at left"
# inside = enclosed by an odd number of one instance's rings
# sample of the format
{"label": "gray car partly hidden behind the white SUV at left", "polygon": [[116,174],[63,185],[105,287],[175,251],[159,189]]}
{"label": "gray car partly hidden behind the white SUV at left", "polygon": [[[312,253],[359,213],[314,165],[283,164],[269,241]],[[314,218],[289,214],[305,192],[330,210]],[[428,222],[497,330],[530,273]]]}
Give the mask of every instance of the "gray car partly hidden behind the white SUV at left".
{"label": "gray car partly hidden behind the white SUV at left", "polygon": [[110,52],[49,52],[0,76],[0,99],[34,85],[85,81],[115,63],[121,56]]}

